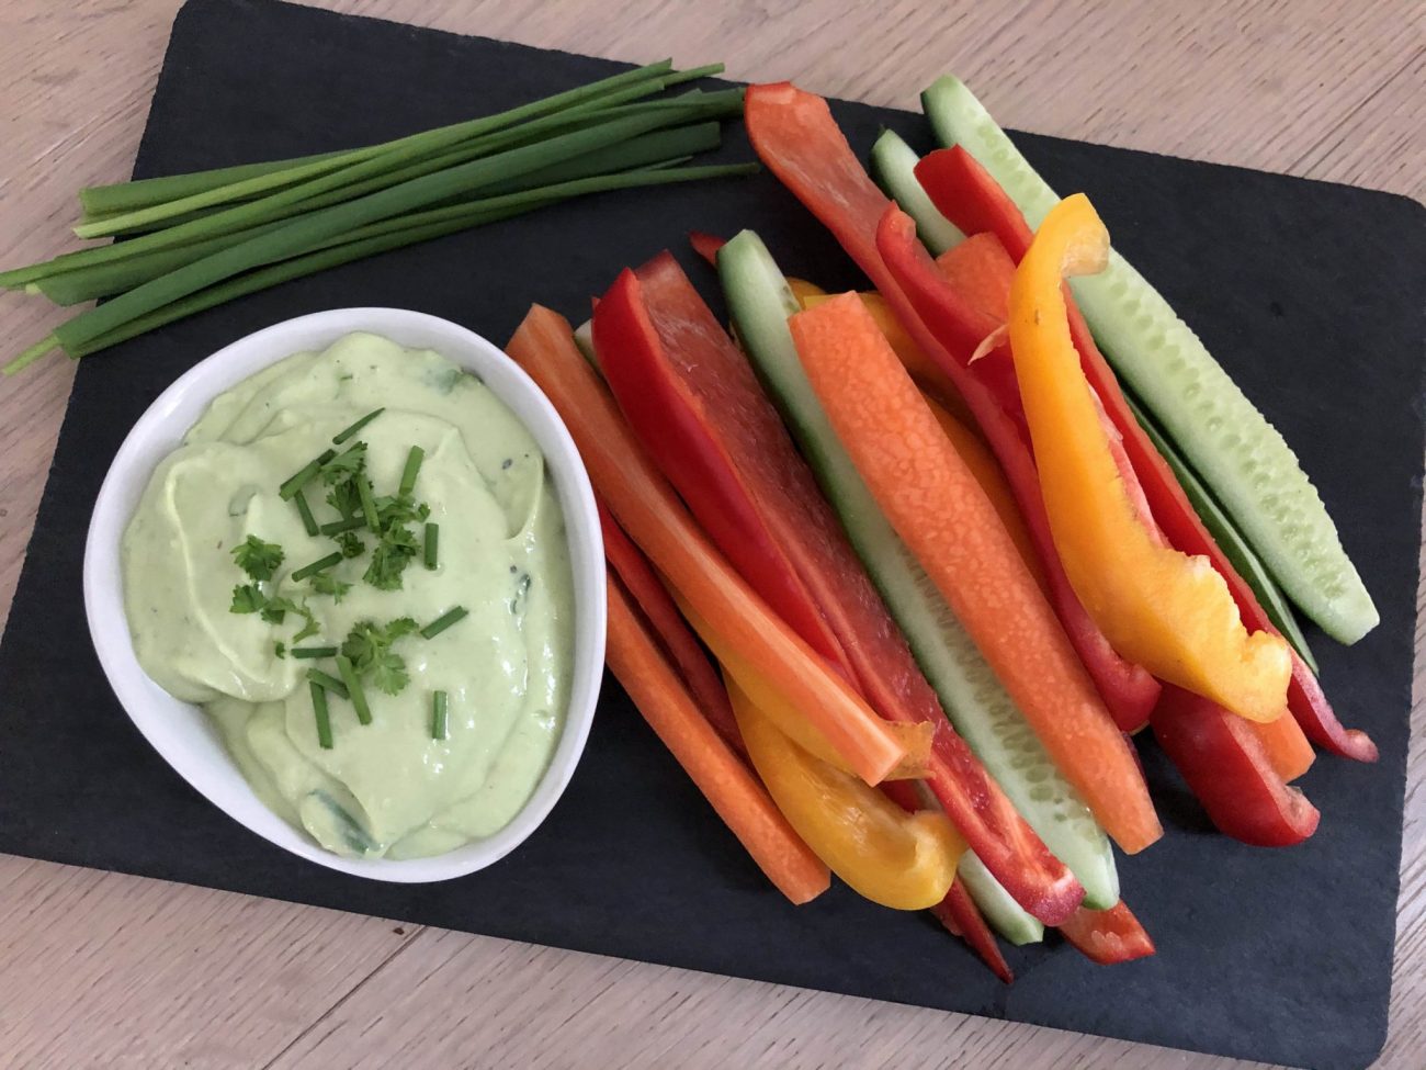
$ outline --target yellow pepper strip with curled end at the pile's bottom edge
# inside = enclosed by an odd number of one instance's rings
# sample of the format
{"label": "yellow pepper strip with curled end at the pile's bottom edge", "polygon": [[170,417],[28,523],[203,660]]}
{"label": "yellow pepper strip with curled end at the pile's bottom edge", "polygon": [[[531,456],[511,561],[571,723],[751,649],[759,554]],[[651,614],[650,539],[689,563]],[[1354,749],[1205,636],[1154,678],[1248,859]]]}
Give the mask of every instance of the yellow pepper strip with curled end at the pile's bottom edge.
{"label": "yellow pepper strip with curled end at the pile's bottom edge", "polygon": [[876,788],[784,736],[727,676],[753,768],[787,823],[853,892],[893,910],[945,899],[965,842],[940,810],[907,813]]}

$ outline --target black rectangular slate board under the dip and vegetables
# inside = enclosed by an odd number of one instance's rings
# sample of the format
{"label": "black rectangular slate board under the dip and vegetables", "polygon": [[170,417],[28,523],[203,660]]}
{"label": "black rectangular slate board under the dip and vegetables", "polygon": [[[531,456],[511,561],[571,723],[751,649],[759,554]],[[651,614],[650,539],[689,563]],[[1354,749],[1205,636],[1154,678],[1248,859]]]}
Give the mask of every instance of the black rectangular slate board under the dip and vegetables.
{"label": "black rectangular slate board under the dip and vegetables", "polygon": [[[135,174],[362,144],[616,66],[270,0],[191,0]],[[858,150],[881,124],[925,147],[915,116],[834,110]],[[729,143],[724,157],[749,154],[739,131]],[[1410,702],[1420,205],[1055,138],[1021,143],[1057,188],[1094,197],[1115,243],[1299,449],[1382,611],[1355,649],[1313,635],[1328,692],[1376,738],[1382,760],[1318,762],[1303,786],[1323,820],[1308,845],[1252,850],[1214,835],[1145,750],[1168,832],[1121,870],[1156,957],[1101,969],[1052,942],[1012,952],[1018,980],[1004,987],[925,916],[840,887],[786,906],[612,682],[568,795],[522,850],[449,885],[344,877],[250,835],[183,783],[77,642],[84,529],[104,469],[193,362],[267,324],[345,305],[416,308],[499,341],[536,298],[582,315],[619,267],[665,245],[683,255],[693,227],[756,227],[796,274],[854,284],[831,240],[767,175],[565,205],[289,284],[86,360],[0,646],[0,850],[1245,1059],[1366,1066],[1386,1031]]]}

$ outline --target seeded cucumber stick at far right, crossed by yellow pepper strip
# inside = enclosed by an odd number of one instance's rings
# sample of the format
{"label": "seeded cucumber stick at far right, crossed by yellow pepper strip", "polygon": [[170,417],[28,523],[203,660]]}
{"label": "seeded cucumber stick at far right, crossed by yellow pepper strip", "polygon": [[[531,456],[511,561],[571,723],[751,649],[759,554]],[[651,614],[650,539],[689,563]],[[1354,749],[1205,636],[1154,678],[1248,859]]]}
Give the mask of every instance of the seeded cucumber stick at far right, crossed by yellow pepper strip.
{"label": "seeded cucumber stick at far right, crossed by yellow pepper strip", "polygon": [[[1058,197],[957,78],[921,94],[943,144],[961,144],[1038,227]],[[1335,639],[1353,643],[1379,616],[1296,455],[1198,335],[1114,250],[1071,281],[1115,371],[1144,399],[1269,572]]]}

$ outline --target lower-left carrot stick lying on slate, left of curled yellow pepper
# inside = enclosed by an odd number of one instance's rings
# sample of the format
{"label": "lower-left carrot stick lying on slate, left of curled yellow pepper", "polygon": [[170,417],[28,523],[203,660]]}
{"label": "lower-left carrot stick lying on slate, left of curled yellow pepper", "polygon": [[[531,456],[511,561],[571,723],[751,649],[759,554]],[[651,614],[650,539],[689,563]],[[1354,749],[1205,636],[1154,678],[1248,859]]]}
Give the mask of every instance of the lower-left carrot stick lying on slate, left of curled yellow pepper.
{"label": "lower-left carrot stick lying on slate, left of curled yellow pepper", "polygon": [[771,796],[703,718],[673,666],[609,578],[609,668],[643,719],[733,830],[767,879],[794,903],[816,899],[831,875],[793,832]]}

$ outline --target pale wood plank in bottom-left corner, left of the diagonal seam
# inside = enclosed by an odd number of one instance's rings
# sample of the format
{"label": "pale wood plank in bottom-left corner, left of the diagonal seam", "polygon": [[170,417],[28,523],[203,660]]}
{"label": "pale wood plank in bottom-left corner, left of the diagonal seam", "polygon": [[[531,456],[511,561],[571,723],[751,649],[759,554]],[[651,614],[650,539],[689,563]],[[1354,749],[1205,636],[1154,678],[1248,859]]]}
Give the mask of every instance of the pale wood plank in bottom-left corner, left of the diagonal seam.
{"label": "pale wood plank in bottom-left corner, left of the diagonal seam", "polygon": [[419,932],[40,862],[0,889],[13,1067],[260,1066]]}

